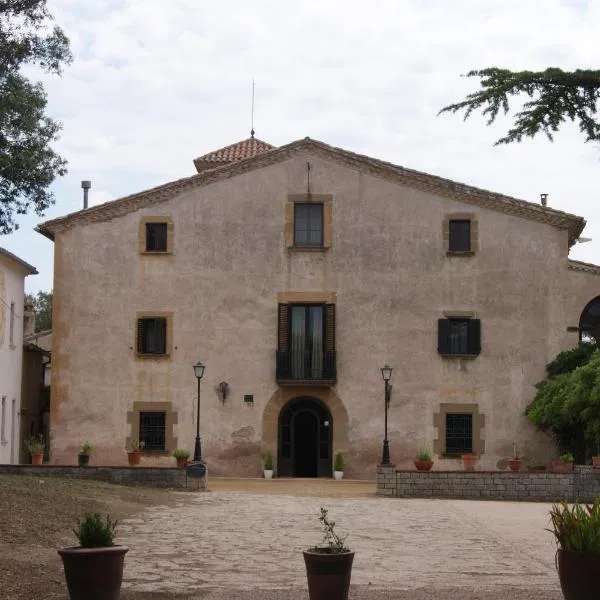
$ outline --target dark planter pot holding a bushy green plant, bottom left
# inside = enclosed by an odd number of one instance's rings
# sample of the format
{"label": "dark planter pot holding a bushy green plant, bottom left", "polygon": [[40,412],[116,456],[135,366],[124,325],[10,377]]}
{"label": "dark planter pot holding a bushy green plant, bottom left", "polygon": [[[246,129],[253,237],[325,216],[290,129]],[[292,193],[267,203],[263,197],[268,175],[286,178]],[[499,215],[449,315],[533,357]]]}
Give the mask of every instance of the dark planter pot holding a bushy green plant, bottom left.
{"label": "dark planter pot holding a bushy green plant, bottom left", "polygon": [[71,600],[119,600],[127,546],[61,548]]}

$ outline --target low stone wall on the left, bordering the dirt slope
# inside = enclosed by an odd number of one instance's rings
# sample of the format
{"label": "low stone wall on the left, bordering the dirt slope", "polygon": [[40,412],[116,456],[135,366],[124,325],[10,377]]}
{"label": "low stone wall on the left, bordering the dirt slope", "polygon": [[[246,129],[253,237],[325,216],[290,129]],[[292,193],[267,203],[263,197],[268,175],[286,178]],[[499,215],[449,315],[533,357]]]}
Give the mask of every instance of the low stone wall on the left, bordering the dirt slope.
{"label": "low stone wall on the left, bordering the dirt slope", "polygon": [[206,489],[206,477],[192,479],[185,469],[160,467],[75,467],[58,465],[0,465],[0,475],[95,479],[121,485]]}

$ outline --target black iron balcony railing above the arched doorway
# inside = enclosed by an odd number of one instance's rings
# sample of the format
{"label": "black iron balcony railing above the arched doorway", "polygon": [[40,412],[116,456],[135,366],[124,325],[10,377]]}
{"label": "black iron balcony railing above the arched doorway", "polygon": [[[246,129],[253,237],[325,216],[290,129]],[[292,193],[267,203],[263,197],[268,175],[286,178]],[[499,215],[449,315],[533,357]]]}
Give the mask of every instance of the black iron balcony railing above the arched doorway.
{"label": "black iron balcony railing above the arched doorway", "polygon": [[277,383],[282,385],[333,385],[336,382],[335,352],[323,352],[322,359],[312,353],[277,352]]}

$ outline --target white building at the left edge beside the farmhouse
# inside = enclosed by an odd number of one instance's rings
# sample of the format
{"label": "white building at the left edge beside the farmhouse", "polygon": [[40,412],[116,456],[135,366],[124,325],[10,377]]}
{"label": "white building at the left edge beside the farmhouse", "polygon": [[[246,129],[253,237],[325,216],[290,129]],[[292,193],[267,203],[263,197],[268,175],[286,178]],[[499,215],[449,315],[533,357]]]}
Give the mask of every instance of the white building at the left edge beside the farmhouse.
{"label": "white building at the left edge beside the farmhouse", "polygon": [[0,464],[19,462],[25,277],[30,264],[0,248]]}

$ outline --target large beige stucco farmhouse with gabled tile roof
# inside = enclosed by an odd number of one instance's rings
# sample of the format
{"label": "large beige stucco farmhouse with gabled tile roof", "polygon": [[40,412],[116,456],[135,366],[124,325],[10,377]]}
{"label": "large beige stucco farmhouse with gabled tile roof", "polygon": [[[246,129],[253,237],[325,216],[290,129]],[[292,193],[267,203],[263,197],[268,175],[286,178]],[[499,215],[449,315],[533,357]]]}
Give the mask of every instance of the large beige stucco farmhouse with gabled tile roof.
{"label": "large beige stucco farmhouse with gabled tile roof", "polygon": [[[552,441],[524,417],[579,339],[600,267],[568,258],[583,218],[305,138],[254,137],[198,174],[48,221],[55,243],[51,460],[193,450],[201,380],[213,474],[374,477],[384,386],[392,461],[496,468]],[[226,384],[226,385],[225,385]]]}

